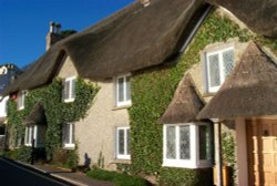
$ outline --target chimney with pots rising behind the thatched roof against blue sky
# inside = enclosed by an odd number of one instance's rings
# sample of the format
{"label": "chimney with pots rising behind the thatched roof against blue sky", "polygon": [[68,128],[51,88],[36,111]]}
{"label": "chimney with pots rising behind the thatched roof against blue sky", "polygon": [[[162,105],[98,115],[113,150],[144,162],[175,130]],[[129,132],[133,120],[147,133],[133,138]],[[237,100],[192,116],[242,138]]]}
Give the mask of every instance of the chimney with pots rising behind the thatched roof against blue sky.
{"label": "chimney with pots rising behind the thatched roof against blue sky", "polygon": [[50,49],[51,45],[63,39],[63,37],[59,34],[60,29],[60,23],[55,23],[52,21],[50,22],[49,33],[47,34],[47,51]]}

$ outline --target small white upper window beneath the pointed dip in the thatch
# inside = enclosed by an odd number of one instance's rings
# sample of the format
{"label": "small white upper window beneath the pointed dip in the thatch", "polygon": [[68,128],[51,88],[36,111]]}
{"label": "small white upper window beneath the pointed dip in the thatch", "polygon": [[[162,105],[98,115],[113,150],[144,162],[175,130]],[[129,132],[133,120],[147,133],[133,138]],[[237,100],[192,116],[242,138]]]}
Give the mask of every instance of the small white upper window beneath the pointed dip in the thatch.
{"label": "small white upper window beneath the pointed dip in the thatch", "polygon": [[64,80],[63,84],[63,101],[64,102],[73,102],[75,99],[75,81],[76,78],[68,78]]}

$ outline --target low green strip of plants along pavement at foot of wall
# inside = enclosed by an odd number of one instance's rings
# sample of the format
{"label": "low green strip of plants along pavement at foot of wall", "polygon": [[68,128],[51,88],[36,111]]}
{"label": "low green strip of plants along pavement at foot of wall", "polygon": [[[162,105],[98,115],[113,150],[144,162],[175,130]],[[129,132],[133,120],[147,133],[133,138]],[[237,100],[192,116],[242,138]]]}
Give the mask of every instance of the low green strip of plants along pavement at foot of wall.
{"label": "low green strip of plants along pavement at foot of wall", "polygon": [[121,174],[116,172],[109,172],[104,169],[93,169],[86,173],[86,176],[100,179],[113,182],[115,186],[146,186],[150,185],[145,179],[141,177],[130,176],[127,174]]}

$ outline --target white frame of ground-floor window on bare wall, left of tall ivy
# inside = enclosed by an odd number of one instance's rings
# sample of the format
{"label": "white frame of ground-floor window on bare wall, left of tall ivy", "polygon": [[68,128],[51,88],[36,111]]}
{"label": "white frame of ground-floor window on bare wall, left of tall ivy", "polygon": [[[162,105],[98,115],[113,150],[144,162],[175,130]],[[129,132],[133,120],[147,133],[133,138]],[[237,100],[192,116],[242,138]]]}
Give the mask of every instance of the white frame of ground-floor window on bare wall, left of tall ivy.
{"label": "white frame of ground-floor window on bare wall, left of tall ivy", "polygon": [[[120,154],[120,131],[122,130],[124,131],[124,154]],[[116,127],[116,158],[117,159],[131,159],[131,155],[127,154],[127,131],[129,130],[130,130],[130,126]]]}

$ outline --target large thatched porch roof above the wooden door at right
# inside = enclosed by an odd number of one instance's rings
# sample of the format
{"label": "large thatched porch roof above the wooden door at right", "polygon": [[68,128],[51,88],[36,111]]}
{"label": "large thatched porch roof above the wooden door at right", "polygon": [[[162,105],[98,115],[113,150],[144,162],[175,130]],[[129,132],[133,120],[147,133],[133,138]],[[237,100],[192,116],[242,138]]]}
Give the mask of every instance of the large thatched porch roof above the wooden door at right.
{"label": "large thatched porch roof above the wooden door at right", "polygon": [[254,42],[197,118],[277,114],[277,65]]}

